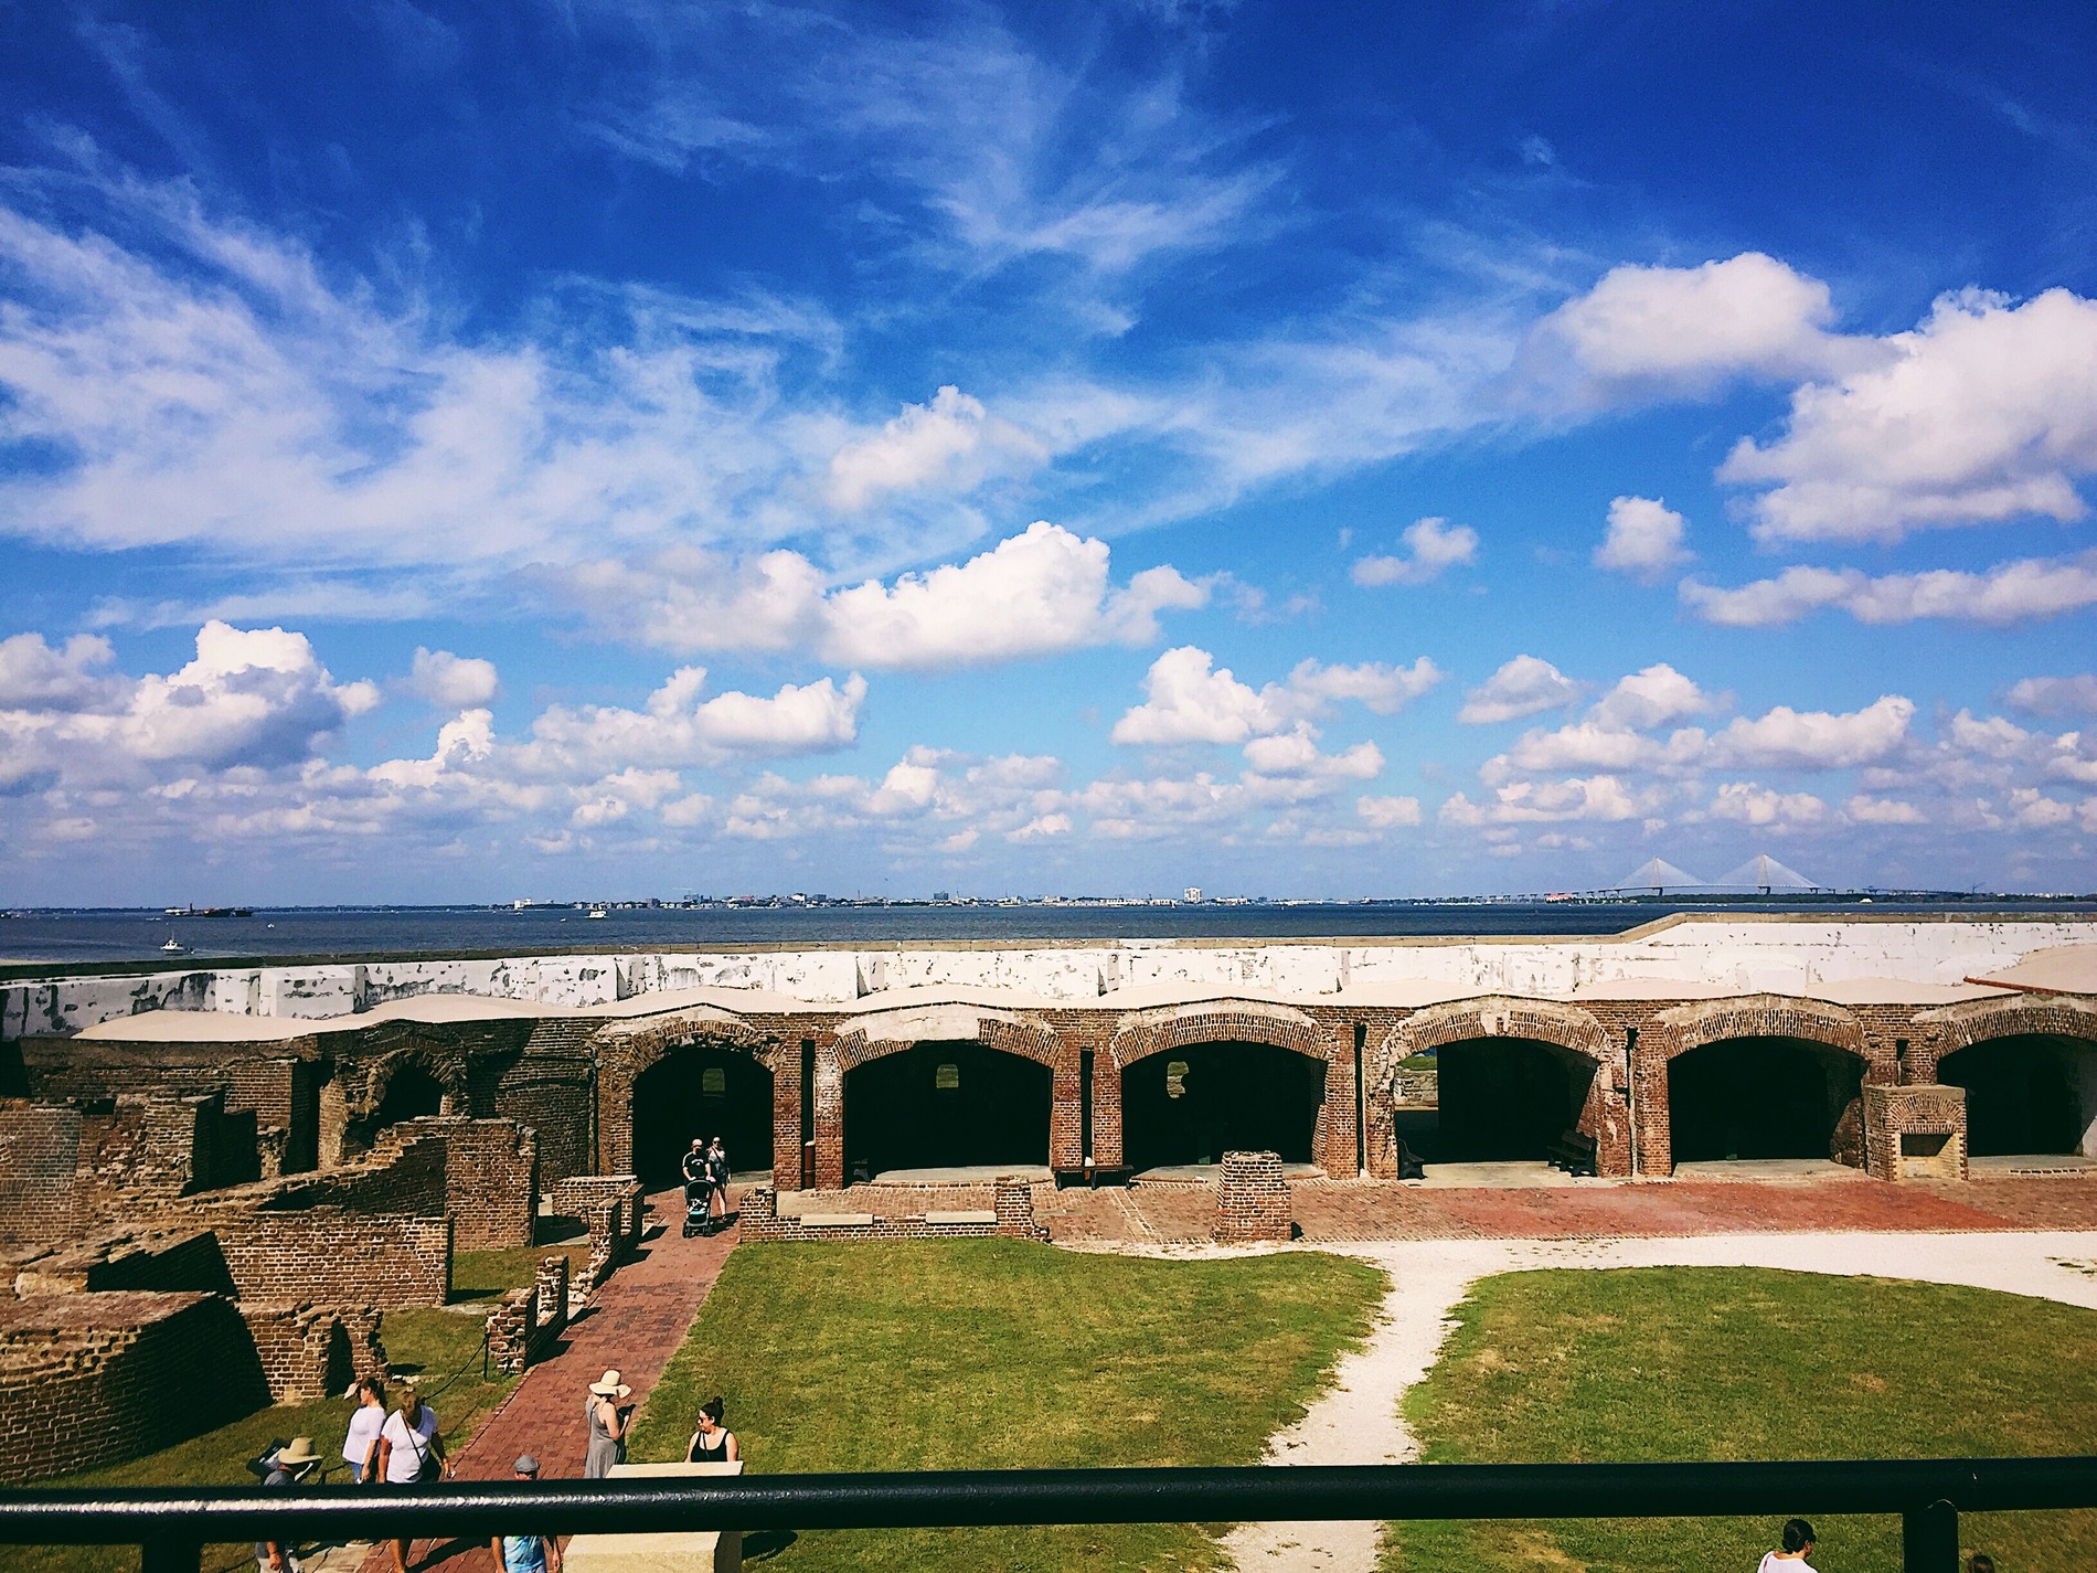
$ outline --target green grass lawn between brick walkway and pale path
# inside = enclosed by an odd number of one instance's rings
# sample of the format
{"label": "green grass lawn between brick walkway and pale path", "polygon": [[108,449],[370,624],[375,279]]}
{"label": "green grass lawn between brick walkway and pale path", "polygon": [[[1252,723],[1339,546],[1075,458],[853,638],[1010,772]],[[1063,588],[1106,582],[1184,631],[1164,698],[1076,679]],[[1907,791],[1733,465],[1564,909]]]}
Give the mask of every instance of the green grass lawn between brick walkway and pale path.
{"label": "green grass lawn between brick walkway and pale path", "polygon": [[[1164,1263],[1011,1240],[747,1246],[629,1453],[684,1458],[698,1405],[719,1393],[751,1472],[1254,1464],[1365,1336],[1382,1292],[1380,1271],[1309,1252]],[[780,1573],[1218,1563],[1189,1525],[751,1537],[744,1554]]]}

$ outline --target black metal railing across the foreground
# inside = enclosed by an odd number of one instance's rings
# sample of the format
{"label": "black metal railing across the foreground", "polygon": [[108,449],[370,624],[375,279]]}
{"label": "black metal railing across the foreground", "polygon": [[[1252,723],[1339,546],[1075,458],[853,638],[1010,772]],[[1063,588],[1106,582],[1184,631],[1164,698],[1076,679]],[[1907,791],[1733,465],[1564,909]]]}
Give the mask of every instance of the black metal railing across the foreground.
{"label": "black metal railing across the foreground", "polygon": [[21,1489],[0,1491],[0,1544],[134,1544],[143,1573],[197,1573],[203,1546],[241,1539],[1898,1512],[1904,1571],[1954,1573],[1961,1512],[2093,1506],[2097,1458],[956,1470],[421,1491]]}

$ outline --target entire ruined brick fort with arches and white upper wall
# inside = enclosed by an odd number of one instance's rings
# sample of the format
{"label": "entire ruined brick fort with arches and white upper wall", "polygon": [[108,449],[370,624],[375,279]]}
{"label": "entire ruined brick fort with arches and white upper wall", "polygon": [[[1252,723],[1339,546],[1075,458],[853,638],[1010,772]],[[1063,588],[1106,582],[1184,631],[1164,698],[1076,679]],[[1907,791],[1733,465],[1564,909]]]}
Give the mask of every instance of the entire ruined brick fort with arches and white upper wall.
{"label": "entire ruined brick fort with arches and white upper wall", "polygon": [[[1038,1187],[1141,1172],[1218,1183],[1218,1237],[1283,1240],[1283,1175],[1397,1179],[1401,1141],[1430,1170],[1592,1145],[1606,1179],[2080,1172],[2089,956],[2087,919],[1975,912],[0,967],[0,1309],[103,1351],[80,1380],[111,1384],[193,1317],[260,1401],[373,1359],[388,1307],[442,1302],[455,1250],[528,1246],[547,1208],[589,1248],[491,1311],[518,1367],[698,1135],[757,1179],[744,1240],[1038,1237]],[[967,1206],[856,1200],[954,1170]],[[84,1412],[132,1414],[132,1382]]]}

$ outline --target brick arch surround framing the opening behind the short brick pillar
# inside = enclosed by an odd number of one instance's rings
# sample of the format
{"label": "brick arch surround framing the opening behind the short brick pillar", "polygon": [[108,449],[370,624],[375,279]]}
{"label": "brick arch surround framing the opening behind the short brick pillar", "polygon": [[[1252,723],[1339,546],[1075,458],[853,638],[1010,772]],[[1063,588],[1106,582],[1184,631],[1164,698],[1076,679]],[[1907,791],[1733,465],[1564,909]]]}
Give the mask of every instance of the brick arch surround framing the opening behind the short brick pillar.
{"label": "brick arch surround framing the opening behind the short brick pillar", "polygon": [[1139,1059],[1204,1042],[1262,1042],[1321,1061],[1325,1103],[1311,1151],[1327,1175],[1355,1175],[1355,1078],[1340,1074],[1340,1040],[1288,1005],[1241,998],[1130,1011],[1116,1023],[1107,1063],[1093,1072],[1093,1151],[1103,1168],[1120,1168],[1124,1156],[1122,1072]]}

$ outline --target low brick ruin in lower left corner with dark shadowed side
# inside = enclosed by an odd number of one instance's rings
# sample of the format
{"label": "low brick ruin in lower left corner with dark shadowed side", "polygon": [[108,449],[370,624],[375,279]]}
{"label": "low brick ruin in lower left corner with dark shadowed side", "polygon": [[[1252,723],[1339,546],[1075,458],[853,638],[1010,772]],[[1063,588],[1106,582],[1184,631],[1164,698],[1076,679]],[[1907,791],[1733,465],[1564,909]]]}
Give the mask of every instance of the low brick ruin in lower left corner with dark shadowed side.
{"label": "low brick ruin in lower left corner with dark shadowed side", "polygon": [[0,1481],[115,1464],[268,1403],[216,1294],[0,1300]]}

